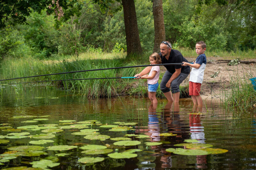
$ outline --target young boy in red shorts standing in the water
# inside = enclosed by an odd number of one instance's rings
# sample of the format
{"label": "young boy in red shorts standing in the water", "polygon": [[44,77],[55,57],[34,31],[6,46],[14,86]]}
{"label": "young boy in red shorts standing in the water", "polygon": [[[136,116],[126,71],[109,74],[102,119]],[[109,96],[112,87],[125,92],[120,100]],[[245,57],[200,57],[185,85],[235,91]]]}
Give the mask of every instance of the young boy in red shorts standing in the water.
{"label": "young boy in red shorts standing in the water", "polygon": [[196,111],[202,111],[202,107],[203,107],[203,100],[200,96],[200,88],[203,82],[204,69],[206,66],[206,56],[204,54],[205,50],[206,50],[206,44],[204,43],[204,41],[197,42],[196,54],[198,55],[198,57],[196,58],[196,61],[193,62],[193,64],[182,62],[183,66],[188,65],[192,67],[190,72],[190,78],[189,78],[189,95],[191,95],[191,98],[193,100],[194,110],[198,105],[199,110],[196,109]]}

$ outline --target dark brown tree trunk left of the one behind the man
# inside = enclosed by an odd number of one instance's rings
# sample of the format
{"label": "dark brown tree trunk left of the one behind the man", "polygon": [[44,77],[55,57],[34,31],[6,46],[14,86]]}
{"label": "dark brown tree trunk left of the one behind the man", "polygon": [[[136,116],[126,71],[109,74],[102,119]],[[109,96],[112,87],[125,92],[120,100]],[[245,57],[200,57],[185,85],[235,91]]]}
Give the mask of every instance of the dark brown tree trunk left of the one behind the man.
{"label": "dark brown tree trunk left of the one behind the man", "polygon": [[142,48],[140,45],[134,0],[122,0],[122,4],[124,9],[127,56],[141,54]]}

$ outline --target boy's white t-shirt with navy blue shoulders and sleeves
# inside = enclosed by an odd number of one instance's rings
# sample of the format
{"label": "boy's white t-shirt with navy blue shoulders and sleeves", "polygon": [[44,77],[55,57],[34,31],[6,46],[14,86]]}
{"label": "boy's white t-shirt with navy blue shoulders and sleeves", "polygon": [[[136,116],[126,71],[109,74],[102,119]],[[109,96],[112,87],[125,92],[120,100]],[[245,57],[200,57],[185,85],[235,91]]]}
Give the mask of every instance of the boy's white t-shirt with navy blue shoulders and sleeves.
{"label": "boy's white t-shirt with navy blue shoulders and sleeves", "polygon": [[196,58],[195,63],[200,64],[201,66],[199,69],[193,68],[191,69],[190,72],[190,77],[189,81],[194,82],[194,83],[203,83],[204,79],[204,69],[206,66],[206,56],[205,54],[198,55]]}

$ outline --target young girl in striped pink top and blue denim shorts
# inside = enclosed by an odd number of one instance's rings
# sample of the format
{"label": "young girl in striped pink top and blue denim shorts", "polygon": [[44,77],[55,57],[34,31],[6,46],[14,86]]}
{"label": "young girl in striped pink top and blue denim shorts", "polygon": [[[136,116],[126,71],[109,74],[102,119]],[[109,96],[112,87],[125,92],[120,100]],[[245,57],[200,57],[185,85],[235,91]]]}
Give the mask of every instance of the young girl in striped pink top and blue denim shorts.
{"label": "young girl in striped pink top and blue denim shorts", "polygon": [[[149,56],[150,64],[161,64],[160,55],[157,53],[153,53]],[[151,67],[151,66],[149,66]],[[148,98],[151,100],[152,103],[157,103],[156,99],[156,90],[158,88],[158,79],[159,79],[159,66],[152,66],[149,74],[144,76],[140,76],[140,79],[148,79]]]}

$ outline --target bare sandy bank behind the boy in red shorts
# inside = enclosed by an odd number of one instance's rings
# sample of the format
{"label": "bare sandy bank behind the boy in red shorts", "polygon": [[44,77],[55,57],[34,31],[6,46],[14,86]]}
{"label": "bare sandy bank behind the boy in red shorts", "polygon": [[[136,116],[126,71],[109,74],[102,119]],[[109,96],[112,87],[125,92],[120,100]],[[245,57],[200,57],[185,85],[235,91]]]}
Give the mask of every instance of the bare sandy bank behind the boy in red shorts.
{"label": "bare sandy bank behind the boy in red shorts", "polygon": [[[217,60],[221,58],[217,57],[209,57],[208,60],[212,60],[213,62],[208,62],[206,64],[206,68],[204,70],[204,80],[201,85],[201,96],[203,99],[215,99],[218,100],[220,98],[222,90],[228,90],[230,83],[232,83],[232,79],[242,78],[251,82],[249,78],[256,77],[256,63],[251,64],[238,64],[236,66],[228,66],[228,63],[217,63]],[[189,62],[194,61],[194,58],[187,58]],[[243,59],[243,61],[256,61],[256,59]],[[163,69],[163,70],[162,70]],[[162,68],[161,71],[165,71],[165,68]],[[219,71],[218,76],[215,78],[211,77],[214,72]],[[181,85],[185,85],[188,83],[189,76],[182,82]]]}

